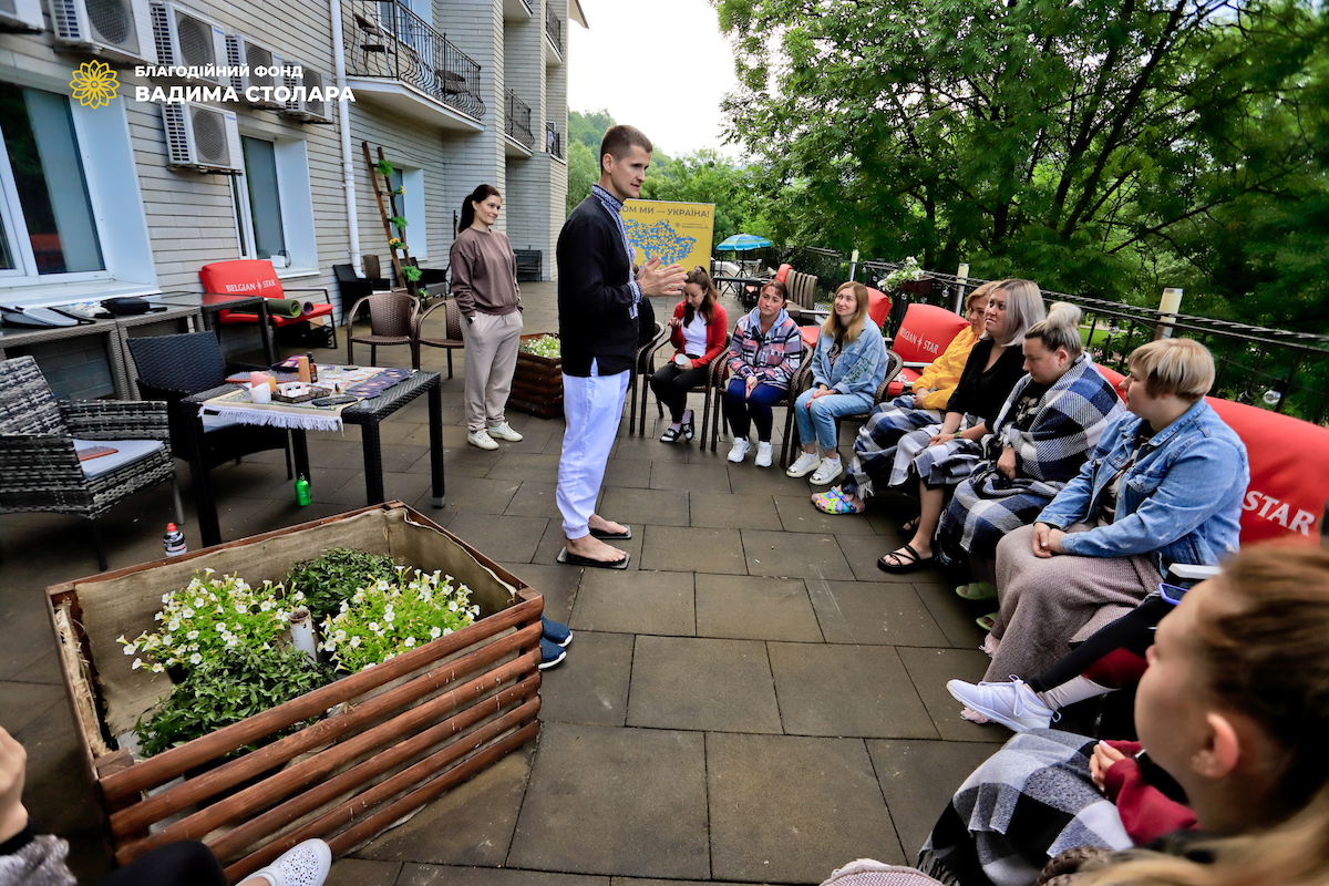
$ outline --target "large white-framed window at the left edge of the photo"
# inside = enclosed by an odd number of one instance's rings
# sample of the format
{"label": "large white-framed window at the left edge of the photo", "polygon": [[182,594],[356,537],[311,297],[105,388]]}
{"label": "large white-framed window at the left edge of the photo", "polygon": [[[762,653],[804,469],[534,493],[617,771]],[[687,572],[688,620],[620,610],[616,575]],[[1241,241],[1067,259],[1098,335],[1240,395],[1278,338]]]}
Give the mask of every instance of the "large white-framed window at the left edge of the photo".
{"label": "large white-framed window at the left edge of the photo", "polygon": [[0,276],[109,276],[69,100],[0,82]]}

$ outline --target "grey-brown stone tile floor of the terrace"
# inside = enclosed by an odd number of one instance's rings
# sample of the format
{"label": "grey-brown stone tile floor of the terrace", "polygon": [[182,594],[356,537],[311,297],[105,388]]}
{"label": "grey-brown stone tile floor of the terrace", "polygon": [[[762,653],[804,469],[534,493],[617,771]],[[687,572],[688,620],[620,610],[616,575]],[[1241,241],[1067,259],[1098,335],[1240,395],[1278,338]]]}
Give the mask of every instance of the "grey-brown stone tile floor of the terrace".
{"label": "grey-brown stone tile floor of the terrace", "polygon": [[[557,329],[556,286],[522,290],[528,332]],[[657,299],[657,316],[671,307]],[[740,308],[726,307],[736,320]],[[385,348],[380,361],[404,357]],[[427,348],[424,365],[445,369],[443,352]],[[912,502],[884,497],[865,515],[827,517],[805,481],[730,465],[727,434],[715,453],[658,442],[653,402],[645,438],[625,418],[601,502],[633,526],[631,569],[560,566],[562,422],[512,414],[524,442],[466,446],[460,355],[456,368],[444,395],[447,506],[431,507],[423,399],[383,425],[388,497],[540,590],[575,639],[545,672],[537,743],[338,861],[331,882],[815,883],[864,855],[912,861],[950,792],[1006,737],[960,720],[945,691],[946,679],[983,671],[973,623],[983,607],[934,570],[876,569]],[[214,472],[223,538],[365,503],[356,428],[311,434],[310,452],[307,507],[294,503],[279,453]],[[187,466],[177,466],[189,507]],[[104,521],[112,567],[161,557],[169,518],[165,485],[117,507]],[[190,514],[197,543],[194,526]],[[81,882],[106,859],[43,590],[92,573],[77,521],[0,517],[0,723],[28,748],[35,822],[70,840]]]}

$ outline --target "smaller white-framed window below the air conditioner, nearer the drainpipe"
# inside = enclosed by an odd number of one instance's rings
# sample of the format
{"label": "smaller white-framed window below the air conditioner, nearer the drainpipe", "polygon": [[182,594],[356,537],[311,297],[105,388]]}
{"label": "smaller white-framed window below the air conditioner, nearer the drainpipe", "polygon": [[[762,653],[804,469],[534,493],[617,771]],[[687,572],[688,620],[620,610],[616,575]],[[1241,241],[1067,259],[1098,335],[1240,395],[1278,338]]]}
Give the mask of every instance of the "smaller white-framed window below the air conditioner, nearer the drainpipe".
{"label": "smaller white-framed window below the air conditioner, nearer the drainpipe", "polygon": [[231,179],[241,258],[271,259],[278,271],[316,270],[304,142],[242,135],[241,145],[245,173]]}

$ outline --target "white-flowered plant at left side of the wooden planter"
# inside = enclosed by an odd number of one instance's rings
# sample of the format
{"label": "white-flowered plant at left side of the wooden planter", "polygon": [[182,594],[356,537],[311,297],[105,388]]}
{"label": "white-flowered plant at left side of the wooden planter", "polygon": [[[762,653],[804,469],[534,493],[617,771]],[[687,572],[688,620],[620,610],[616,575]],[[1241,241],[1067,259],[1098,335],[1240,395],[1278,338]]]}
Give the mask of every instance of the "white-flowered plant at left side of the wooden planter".
{"label": "white-flowered plant at left side of the wooden planter", "polygon": [[136,658],[134,669],[150,667],[161,673],[175,664],[193,668],[227,650],[266,650],[286,630],[287,610],[304,599],[304,594],[296,591],[283,602],[280,584],[263,582],[255,588],[239,575],[213,578],[213,573],[205,569],[181,590],[162,594],[162,610],[155,616],[162,623],[159,630],[144,631],[133,640],[124,635],[117,638],[125,655],[142,654],[153,659],[146,665],[142,658]]}

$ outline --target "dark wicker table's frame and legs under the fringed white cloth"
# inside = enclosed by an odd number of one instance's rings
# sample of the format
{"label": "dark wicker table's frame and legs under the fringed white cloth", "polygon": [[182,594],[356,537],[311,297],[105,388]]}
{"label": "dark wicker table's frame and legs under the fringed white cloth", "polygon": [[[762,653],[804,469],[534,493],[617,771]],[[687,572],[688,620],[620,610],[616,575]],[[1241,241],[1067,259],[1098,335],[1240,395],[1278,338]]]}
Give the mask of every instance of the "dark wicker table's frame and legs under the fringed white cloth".
{"label": "dark wicker table's frame and legs under the fringed white cloth", "polygon": [[[203,391],[193,397],[186,397],[183,402],[199,405],[206,400],[221,396],[229,391],[235,391],[237,385],[222,385],[211,391]],[[377,505],[384,501],[383,490],[383,444],[379,436],[379,422],[405,406],[423,393],[429,395],[429,474],[433,486],[433,506],[443,507],[444,503],[444,476],[443,476],[443,376],[437,372],[415,372],[408,379],[403,379],[376,397],[361,400],[354,406],[342,410],[342,421],[351,425],[360,425],[360,440],[364,449],[364,491],[368,505]],[[195,434],[202,434],[202,420],[197,418],[191,425]],[[295,437],[295,465],[296,472],[310,476],[310,454],[304,445],[304,434]],[[193,452],[199,452],[201,446],[191,446]],[[217,523],[217,501],[213,497],[211,478],[203,465],[191,462],[190,476],[194,480],[194,506],[198,509],[198,531],[205,546],[218,545],[222,541],[221,527]]]}

